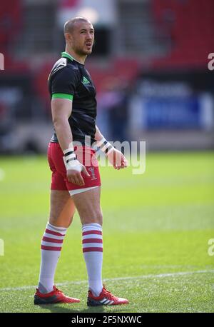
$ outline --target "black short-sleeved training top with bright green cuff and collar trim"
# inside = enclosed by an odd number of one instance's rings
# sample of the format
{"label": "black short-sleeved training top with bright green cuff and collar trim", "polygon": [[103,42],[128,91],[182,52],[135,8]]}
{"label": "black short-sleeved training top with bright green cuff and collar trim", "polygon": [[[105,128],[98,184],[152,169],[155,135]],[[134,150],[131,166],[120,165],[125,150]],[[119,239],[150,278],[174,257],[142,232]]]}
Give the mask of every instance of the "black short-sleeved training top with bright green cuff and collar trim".
{"label": "black short-sleeved training top with bright green cuff and collar trim", "polygon": [[[85,66],[62,52],[49,75],[49,93],[51,99],[73,101],[68,119],[73,141],[85,144],[85,136],[91,136],[92,144],[96,133],[96,89]],[[51,142],[58,142],[56,132]]]}

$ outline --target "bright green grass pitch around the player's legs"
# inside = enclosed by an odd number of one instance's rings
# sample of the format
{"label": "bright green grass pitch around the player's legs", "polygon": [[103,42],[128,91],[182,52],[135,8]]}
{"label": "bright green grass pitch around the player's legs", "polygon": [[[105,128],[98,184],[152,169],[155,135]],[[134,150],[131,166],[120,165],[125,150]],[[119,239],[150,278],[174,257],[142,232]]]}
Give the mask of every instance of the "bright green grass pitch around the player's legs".
{"label": "bright green grass pitch around the player's legs", "polygon": [[0,312],[214,312],[214,154],[148,154],[146,173],[101,168],[103,278],[128,306],[87,308],[75,214],[55,282],[73,305],[34,306],[49,213],[44,156],[0,158]]}

